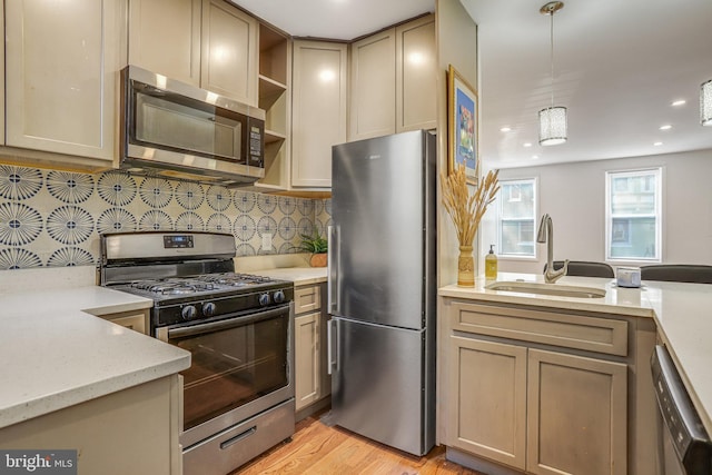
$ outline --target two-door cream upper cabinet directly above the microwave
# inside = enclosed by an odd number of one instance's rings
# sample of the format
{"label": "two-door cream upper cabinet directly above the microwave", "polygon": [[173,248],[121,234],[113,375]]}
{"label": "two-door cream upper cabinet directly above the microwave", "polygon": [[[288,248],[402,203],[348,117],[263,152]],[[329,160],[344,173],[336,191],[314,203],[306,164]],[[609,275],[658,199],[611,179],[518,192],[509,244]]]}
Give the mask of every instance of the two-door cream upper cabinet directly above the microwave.
{"label": "two-door cream upper cabinet directly above the microwave", "polygon": [[257,106],[259,23],[224,0],[130,0],[129,62]]}

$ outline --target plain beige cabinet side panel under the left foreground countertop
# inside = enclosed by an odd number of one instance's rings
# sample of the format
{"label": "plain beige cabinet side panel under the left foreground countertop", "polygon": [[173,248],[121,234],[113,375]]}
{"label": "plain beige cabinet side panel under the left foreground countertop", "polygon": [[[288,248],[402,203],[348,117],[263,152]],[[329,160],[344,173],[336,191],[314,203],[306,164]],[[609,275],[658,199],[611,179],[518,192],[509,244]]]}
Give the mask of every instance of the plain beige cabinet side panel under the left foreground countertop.
{"label": "plain beige cabinet side panel under the left foreground countertop", "polygon": [[0,428],[0,447],[77,451],[80,474],[180,475],[181,424],[182,379],[171,375]]}

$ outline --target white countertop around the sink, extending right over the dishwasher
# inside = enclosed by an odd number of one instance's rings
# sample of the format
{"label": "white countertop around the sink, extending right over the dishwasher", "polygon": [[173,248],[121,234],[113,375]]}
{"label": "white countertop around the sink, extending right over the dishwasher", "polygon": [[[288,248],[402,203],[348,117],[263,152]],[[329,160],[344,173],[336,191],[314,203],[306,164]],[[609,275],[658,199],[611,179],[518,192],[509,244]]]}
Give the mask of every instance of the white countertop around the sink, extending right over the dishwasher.
{"label": "white countertop around the sink, extending right over the dishwasher", "polygon": [[[542,275],[500,273],[497,280],[543,283]],[[640,289],[617,288],[614,279],[563,277],[554,285],[603,288],[603,298],[571,298],[485,289],[484,277],[475,287],[442,287],[442,297],[516,303],[571,310],[654,318],[705,428],[712,434],[712,286],[643,281]]]}

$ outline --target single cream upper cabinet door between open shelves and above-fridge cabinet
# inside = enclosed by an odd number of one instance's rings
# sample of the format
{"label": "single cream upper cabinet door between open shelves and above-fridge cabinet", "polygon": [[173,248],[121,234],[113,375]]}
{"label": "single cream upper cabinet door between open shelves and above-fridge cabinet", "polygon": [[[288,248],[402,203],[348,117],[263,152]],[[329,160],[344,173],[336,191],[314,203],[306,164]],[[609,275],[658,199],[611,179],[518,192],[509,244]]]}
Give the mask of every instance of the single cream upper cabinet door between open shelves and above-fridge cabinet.
{"label": "single cream upper cabinet door between open shelves and above-fridge cabinet", "polygon": [[343,43],[295,41],[291,185],[332,187],[332,146],[346,141]]}

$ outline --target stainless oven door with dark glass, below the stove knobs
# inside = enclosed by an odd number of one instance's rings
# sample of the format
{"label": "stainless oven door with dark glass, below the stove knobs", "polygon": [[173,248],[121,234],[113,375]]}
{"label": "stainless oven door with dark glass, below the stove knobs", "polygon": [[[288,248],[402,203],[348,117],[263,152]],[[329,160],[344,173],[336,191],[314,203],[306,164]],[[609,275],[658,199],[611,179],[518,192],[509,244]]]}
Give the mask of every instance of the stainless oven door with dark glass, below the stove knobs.
{"label": "stainless oven door with dark glass, below the stove knobs", "polygon": [[293,308],[156,330],[191,354],[181,372],[184,447],[294,397]]}

